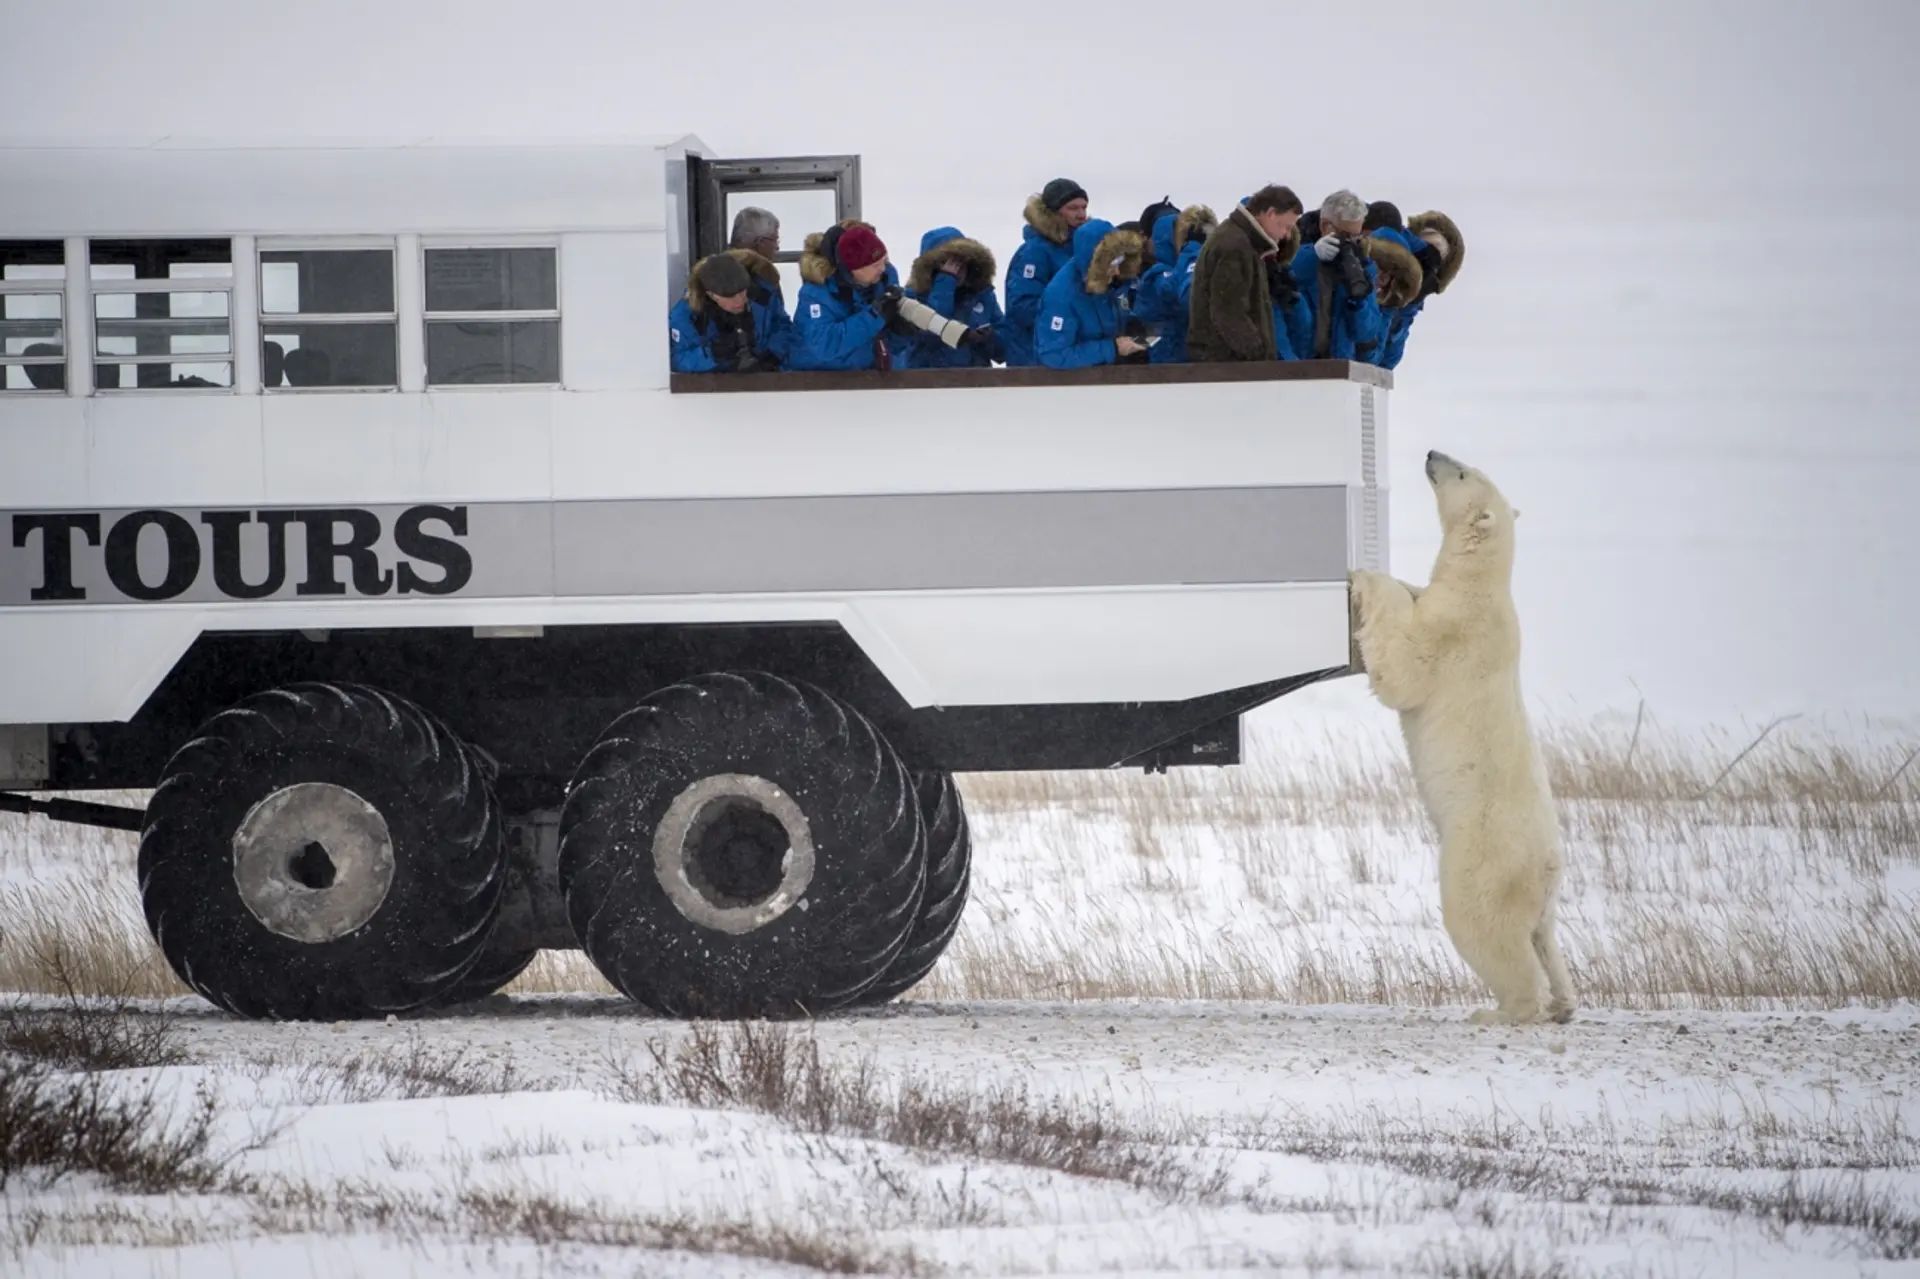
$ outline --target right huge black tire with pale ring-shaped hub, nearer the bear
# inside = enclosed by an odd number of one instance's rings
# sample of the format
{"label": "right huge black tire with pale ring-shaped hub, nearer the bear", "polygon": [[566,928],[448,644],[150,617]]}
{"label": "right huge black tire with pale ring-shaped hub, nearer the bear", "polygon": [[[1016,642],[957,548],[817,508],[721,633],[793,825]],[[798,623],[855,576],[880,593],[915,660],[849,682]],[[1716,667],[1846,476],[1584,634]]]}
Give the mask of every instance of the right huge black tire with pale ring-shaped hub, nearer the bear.
{"label": "right huge black tire with pale ring-shaped hub, nearer the bear", "polygon": [[614,720],[561,808],[574,935],[678,1018],[812,1016],[900,953],[925,883],[912,780],[852,707],[707,674]]}

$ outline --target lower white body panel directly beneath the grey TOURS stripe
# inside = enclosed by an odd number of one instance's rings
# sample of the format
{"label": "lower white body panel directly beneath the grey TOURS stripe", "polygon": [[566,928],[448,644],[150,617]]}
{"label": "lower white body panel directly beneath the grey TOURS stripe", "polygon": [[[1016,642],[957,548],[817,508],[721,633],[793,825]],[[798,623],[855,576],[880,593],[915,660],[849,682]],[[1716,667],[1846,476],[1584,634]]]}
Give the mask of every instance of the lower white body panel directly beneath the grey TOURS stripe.
{"label": "lower white body panel directly beneath the grey TOURS stripe", "polygon": [[207,630],[829,620],[914,707],[1162,701],[1338,666],[1344,584],[0,609],[0,722],[125,720]]}

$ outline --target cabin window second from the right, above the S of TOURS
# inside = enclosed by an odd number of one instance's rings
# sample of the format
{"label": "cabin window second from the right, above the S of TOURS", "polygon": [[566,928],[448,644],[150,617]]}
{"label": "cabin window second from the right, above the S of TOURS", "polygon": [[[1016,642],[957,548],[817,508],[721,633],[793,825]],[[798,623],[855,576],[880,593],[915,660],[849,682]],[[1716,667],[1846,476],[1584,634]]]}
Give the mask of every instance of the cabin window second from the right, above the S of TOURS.
{"label": "cabin window second from the right, above the S of TOURS", "polygon": [[394,250],[263,248],[261,384],[397,386]]}

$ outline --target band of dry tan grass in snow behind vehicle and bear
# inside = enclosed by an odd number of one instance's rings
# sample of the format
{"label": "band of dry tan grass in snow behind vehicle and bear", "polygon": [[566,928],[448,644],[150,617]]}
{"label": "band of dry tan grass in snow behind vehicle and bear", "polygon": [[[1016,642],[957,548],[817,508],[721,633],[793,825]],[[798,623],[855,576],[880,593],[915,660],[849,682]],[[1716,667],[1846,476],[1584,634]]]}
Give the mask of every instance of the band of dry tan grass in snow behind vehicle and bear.
{"label": "band of dry tan grass in snow behind vehicle and bear", "polygon": [[[1542,741],[1569,843],[1565,941],[1586,1002],[1920,997],[1920,912],[1910,891],[1884,887],[1920,864],[1910,743],[1649,720],[1553,724]],[[1002,858],[1002,897],[993,876],[977,878],[952,951],[912,999],[1484,997],[1432,929],[1430,857],[1407,857],[1427,845],[1427,824],[1390,736],[1373,747],[1288,739],[1235,770],[972,774],[960,785],[991,832],[981,862]],[[44,876],[0,889],[0,991],[184,993],[140,920],[132,853],[121,832],[0,818],[0,872]],[[1100,862],[1123,868],[1123,891],[1094,901],[1079,883]],[[1188,910],[1196,880],[1221,874],[1273,928],[1219,929]],[[1417,914],[1382,905],[1396,889]],[[1021,928],[996,916],[1014,905]],[[543,953],[507,989],[612,993],[580,953]]]}

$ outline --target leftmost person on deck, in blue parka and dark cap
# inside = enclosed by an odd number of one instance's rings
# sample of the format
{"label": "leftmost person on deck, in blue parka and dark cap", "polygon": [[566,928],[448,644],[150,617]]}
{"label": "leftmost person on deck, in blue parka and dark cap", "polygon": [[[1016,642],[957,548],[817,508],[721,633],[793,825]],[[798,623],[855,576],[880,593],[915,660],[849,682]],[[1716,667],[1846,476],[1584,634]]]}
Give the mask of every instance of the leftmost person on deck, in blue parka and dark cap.
{"label": "leftmost person on deck, in blue parka and dark cap", "polygon": [[674,373],[772,373],[793,350],[780,271],[753,250],[693,263],[666,317]]}

